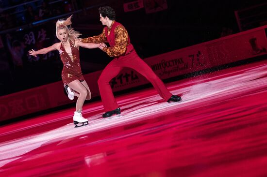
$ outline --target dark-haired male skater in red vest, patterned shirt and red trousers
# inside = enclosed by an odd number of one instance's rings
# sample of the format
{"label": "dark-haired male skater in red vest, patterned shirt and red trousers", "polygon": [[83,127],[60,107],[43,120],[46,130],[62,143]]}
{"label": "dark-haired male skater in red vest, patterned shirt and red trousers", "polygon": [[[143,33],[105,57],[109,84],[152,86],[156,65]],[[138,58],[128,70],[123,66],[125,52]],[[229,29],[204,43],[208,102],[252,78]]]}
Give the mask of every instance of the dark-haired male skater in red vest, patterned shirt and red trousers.
{"label": "dark-haired male skater in red vest, patterned shirt and red trousers", "polygon": [[98,85],[100,96],[104,106],[103,118],[110,117],[114,114],[120,114],[120,108],[115,101],[109,82],[112,78],[124,68],[132,68],[138,73],[145,76],[158,91],[160,96],[167,102],[179,102],[181,97],[172,95],[164,83],[152,71],[152,69],[138,57],[134,50],[134,46],[130,43],[127,30],[118,22],[115,21],[115,11],[109,6],[99,8],[100,21],[106,26],[103,32],[98,36],[82,39],[83,43],[109,43],[110,47],[105,44],[100,45],[100,49],[114,59],[104,68]]}

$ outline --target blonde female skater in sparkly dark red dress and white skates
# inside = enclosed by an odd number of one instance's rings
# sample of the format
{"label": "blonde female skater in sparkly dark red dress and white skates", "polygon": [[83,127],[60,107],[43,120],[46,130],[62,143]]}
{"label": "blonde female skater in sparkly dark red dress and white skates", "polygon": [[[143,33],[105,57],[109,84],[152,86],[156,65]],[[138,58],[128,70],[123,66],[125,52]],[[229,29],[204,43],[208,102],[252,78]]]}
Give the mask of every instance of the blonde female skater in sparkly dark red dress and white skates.
{"label": "blonde female skater in sparkly dark red dress and white skates", "polygon": [[83,43],[78,41],[77,39],[81,34],[72,29],[70,25],[71,16],[66,20],[58,20],[56,22],[56,36],[61,42],[37,51],[32,49],[29,51],[29,54],[36,57],[38,54],[46,54],[53,50],[59,51],[60,59],[64,65],[61,76],[68,97],[71,100],[73,99],[73,96],[78,97],[73,122],[75,127],[81,127],[88,124],[88,120],[82,116],[82,108],[84,101],[91,99],[91,92],[83,78],[80,66],[79,46],[85,48],[97,48],[100,44]]}

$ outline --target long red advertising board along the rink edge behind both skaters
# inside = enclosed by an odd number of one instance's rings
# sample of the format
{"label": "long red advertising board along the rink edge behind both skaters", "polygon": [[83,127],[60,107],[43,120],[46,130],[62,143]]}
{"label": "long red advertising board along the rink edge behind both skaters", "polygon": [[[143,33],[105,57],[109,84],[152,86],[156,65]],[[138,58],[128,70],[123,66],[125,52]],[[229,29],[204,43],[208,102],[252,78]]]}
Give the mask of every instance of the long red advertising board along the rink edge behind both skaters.
{"label": "long red advertising board along the rink edge behind both skaters", "polygon": [[[267,38],[265,28],[251,29],[231,36],[171,51],[144,59],[161,78],[167,79],[206,68],[249,59],[266,54]],[[97,80],[101,71],[85,74],[92,97],[99,96]],[[149,83],[141,74],[124,69],[110,81],[113,91]],[[63,82],[55,82],[0,97],[0,121],[24,116],[68,103]]]}

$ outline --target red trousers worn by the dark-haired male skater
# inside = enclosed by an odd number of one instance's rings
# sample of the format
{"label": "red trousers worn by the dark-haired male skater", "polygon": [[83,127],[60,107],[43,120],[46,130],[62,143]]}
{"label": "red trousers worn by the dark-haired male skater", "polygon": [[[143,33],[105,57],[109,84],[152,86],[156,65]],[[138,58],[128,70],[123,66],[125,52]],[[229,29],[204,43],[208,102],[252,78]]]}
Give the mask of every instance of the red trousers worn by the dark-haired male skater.
{"label": "red trousers worn by the dark-haired male skater", "polygon": [[167,90],[162,80],[160,80],[147,63],[140,59],[133,50],[126,56],[113,59],[105,67],[98,79],[100,96],[105,112],[118,108],[109,82],[116,77],[124,67],[132,68],[145,76],[164,100],[167,101],[171,97],[172,94]]}

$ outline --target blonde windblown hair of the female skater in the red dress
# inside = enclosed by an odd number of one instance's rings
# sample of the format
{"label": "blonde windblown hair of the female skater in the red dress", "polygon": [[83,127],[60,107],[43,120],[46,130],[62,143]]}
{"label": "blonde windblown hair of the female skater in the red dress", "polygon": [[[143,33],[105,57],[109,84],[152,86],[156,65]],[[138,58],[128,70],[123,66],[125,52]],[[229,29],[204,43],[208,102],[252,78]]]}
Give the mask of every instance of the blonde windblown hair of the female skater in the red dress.
{"label": "blonde windblown hair of the female skater in the red dress", "polygon": [[75,40],[78,39],[78,37],[82,34],[80,32],[75,31],[73,28],[71,28],[71,26],[70,26],[72,24],[71,17],[72,17],[72,15],[70,17],[68,17],[66,20],[63,20],[63,19],[57,20],[57,22],[56,22],[56,37],[59,39],[58,34],[57,34],[58,29],[66,28],[67,33],[68,33],[68,37],[72,41],[72,43],[74,44]]}

